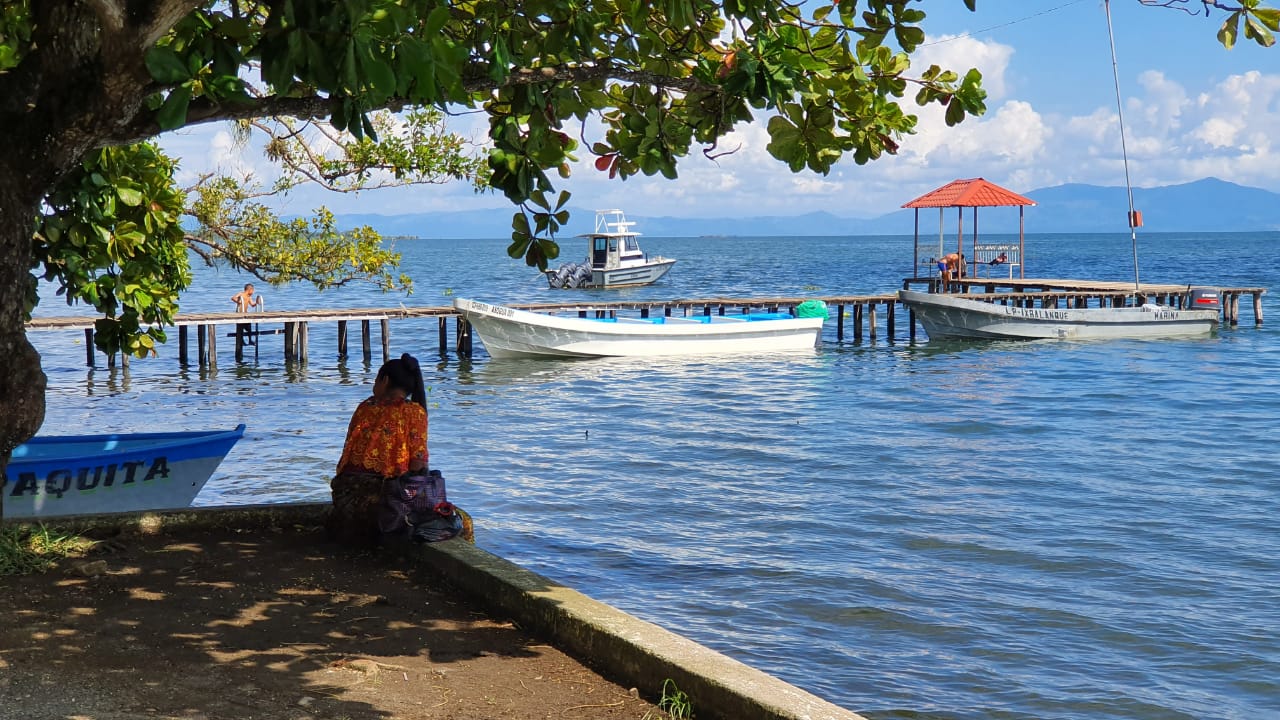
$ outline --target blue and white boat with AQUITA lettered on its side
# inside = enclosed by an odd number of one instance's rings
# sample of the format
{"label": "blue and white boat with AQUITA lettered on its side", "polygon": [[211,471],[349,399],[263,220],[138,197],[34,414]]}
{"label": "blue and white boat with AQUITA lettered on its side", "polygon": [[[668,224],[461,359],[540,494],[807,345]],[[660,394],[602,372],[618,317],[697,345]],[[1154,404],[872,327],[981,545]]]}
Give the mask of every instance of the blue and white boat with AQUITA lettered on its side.
{"label": "blue and white boat with AQUITA lettered on its side", "polygon": [[232,430],[37,436],[5,469],[12,519],[187,507],[244,436]]}

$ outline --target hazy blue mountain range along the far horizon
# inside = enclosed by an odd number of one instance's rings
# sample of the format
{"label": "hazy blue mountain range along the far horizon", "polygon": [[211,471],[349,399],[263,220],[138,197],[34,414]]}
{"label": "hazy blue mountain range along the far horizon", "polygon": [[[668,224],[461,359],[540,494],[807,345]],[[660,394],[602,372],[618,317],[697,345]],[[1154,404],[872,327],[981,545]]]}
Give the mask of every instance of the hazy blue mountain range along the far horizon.
{"label": "hazy blue mountain range along the far horizon", "polygon": [[[1012,190],[1012,188],[1011,188]],[[1036,201],[1025,209],[1028,233],[1128,232],[1129,202],[1124,187],[1060,184],[1023,193]],[[1134,206],[1143,214],[1143,232],[1253,232],[1280,231],[1280,193],[1245,187],[1217,178],[1185,184],[1134,188]],[[623,208],[625,210],[625,208]],[[955,210],[945,210],[947,232],[954,232]],[[562,236],[591,229],[593,210],[571,208],[572,220]],[[850,236],[911,234],[914,210],[896,210],[878,218],[841,218],[831,213],[758,218],[632,217],[636,229],[649,237],[728,236]],[[920,210],[920,227],[937,232],[937,211]],[[444,238],[500,238],[511,233],[511,211],[467,210],[404,215],[346,214],[343,228],[370,225],[384,236]],[[965,210],[965,233],[973,228],[973,210]],[[1016,208],[982,208],[979,233],[1016,233]]]}

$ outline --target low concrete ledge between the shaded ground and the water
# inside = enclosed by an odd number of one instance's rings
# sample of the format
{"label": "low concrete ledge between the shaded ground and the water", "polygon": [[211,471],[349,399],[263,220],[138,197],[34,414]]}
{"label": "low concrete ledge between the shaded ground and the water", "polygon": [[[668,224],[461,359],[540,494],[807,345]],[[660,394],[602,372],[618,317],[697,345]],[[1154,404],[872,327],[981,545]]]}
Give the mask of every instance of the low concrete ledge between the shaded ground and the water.
{"label": "low concrete ledge between the shaded ground and the water", "polygon": [[[287,528],[323,521],[329,503],[196,507],[83,515],[44,521],[73,532],[165,528]],[[27,524],[27,520],[8,520]],[[483,539],[483,528],[481,528]],[[865,720],[773,675],[557,584],[461,539],[404,546],[404,556],[495,615],[541,635],[616,683],[660,692],[671,679],[698,717],[714,720]]]}

